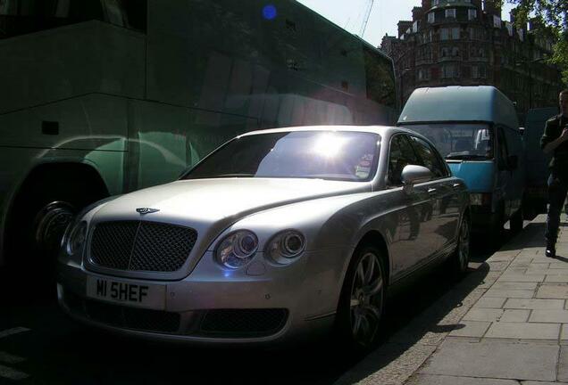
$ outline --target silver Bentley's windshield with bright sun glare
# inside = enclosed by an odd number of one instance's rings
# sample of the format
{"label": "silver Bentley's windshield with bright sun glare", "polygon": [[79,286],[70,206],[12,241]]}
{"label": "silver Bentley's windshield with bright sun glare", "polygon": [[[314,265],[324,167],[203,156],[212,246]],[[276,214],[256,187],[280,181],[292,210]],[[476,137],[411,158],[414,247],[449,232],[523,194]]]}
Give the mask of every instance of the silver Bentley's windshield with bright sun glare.
{"label": "silver Bentley's windshield with bright sun glare", "polygon": [[245,135],[197,164],[183,179],[290,177],[369,181],[377,168],[379,135],[298,131]]}

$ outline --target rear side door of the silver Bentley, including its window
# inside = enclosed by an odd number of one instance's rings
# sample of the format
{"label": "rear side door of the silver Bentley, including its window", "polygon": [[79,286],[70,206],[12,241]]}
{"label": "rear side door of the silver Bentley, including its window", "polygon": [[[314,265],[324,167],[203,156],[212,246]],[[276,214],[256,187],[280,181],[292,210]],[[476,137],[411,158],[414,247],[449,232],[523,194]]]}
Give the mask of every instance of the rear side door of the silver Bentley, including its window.
{"label": "rear side door of the silver Bentley, including its window", "polygon": [[454,243],[460,214],[460,199],[455,189],[460,186],[451,178],[446,162],[439,152],[418,136],[411,136],[414,150],[422,161],[421,165],[430,169],[432,180],[425,184],[432,201],[433,215],[430,225],[432,233],[429,242],[437,246],[434,254],[443,251]]}

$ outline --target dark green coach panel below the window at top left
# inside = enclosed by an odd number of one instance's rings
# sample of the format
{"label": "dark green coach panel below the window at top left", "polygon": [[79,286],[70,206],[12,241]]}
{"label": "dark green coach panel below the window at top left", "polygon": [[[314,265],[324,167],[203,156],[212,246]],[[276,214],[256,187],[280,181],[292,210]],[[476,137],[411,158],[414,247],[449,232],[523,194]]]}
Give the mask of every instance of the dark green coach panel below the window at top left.
{"label": "dark green coach panel below the window at top left", "polygon": [[82,94],[144,97],[146,38],[88,21],[0,41],[0,113]]}

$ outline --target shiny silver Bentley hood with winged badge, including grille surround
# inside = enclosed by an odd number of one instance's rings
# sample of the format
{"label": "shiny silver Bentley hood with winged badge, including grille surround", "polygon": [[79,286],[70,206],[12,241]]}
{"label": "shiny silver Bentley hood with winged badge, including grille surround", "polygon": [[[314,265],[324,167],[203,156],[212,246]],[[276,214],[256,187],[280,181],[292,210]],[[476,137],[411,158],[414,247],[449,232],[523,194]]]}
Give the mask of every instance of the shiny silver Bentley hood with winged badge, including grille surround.
{"label": "shiny silver Bentley hood with winged badge, including grille surround", "polygon": [[[152,221],[192,227],[195,246],[186,264],[172,273],[113,272],[125,277],[181,279],[191,273],[205,251],[230,225],[259,211],[347,193],[371,192],[370,183],[319,179],[226,178],[182,180],[122,195],[104,203],[90,217],[91,227],[107,221]],[[157,209],[140,214],[137,209]],[[121,234],[117,234],[121,237]],[[104,273],[96,266],[89,269]]]}

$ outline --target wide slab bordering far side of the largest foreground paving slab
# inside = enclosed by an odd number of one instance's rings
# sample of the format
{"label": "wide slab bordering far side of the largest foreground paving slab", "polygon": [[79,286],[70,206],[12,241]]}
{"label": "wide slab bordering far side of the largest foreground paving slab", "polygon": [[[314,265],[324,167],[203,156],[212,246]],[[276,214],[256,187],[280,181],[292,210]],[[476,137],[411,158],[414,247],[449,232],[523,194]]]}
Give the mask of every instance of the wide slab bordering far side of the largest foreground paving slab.
{"label": "wide slab bordering far side of the largest foreground paving slab", "polygon": [[560,324],[498,322],[491,324],[485,337],[519,340],[558,340],[560,326]]}

